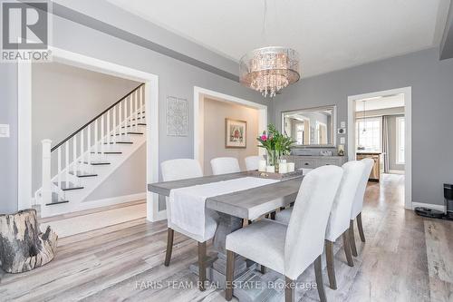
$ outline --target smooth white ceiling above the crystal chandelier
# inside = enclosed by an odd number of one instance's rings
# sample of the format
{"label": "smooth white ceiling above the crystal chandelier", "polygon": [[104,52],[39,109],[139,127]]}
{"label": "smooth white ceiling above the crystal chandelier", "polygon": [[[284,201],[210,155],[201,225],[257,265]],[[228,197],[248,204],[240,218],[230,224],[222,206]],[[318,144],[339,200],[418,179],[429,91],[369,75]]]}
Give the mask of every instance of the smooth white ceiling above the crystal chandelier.
{"label": "smooth white ceiling above the crystal chandelier", "polygon": [[439,45],[450,2],[267,0],[264,31],[265,0],[108,1],[236,61],[255,48],[292,47],[303,77]]}

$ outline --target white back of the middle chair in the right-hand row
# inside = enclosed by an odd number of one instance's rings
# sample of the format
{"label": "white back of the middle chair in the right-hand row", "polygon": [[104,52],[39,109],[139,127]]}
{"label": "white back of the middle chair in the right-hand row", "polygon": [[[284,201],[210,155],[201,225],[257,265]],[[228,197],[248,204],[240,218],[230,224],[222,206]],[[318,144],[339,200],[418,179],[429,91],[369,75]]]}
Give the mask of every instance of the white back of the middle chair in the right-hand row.
{"label": "white back of the middle chair in the right-hand row", "polygon": [[333,200],[325,239],[335,242],[346,229],[349,229],[352,203],[364,169],[365,164],[361,161],[348,161],[342,165],[342,182]]}

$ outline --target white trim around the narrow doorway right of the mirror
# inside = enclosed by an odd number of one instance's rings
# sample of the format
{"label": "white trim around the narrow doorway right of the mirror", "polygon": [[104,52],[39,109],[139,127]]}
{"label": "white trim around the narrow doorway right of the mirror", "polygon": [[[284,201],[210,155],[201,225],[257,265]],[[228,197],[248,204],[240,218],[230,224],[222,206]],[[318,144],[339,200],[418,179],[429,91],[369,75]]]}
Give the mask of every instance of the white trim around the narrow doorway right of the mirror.
{"label": "white trim around the narrow doorway right of the mirror", "polygon": [[355,160],[355,119],[354,102],[357,100],[378,97],[381,95],[404,94],[405,117],[405,176],[404,176],[404,207],[412,209],[412,87],[390,89],[376,93],[363,93],[348,96],[348,158]]}

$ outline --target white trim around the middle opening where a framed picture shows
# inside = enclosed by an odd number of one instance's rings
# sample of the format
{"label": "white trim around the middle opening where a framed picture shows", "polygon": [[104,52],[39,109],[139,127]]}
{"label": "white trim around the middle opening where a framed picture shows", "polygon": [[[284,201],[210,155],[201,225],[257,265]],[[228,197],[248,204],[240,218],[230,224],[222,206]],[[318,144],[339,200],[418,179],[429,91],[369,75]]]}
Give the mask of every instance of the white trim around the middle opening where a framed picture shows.
{"label": "white trim around the middle opening where a framed picture shows", "polygon": [[[267,129],[267,105],[247,101],[233,95],[217,93],[212,90],[194,86],[194,159],[199,161],[203,166],[203,138],[204,124],[203,102],[202,97],[208,96],[219,102],[234,102],[258,110],[258,130],[263,132]],[[259,148],[260,154],[265,154],[263,148]]]}

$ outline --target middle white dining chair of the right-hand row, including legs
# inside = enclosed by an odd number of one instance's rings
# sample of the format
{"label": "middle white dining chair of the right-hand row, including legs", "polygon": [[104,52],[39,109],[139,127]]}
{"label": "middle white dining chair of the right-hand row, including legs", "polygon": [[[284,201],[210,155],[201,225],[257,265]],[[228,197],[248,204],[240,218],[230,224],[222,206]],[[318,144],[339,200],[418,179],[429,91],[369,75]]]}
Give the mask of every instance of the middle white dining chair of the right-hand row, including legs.
{"label": "middle white dining chair of the right-hand row, including legs", "polygon": [[331,216],[325,231],[325,259],[331,288],[336,289],[333,243],[342,237],[343,249],[350,267],[354,266],[350,240],[348,238],[349,220],[352,203],[359,187],[365,164],[361,161],[348,161],[342,165],[342,182],[337,191],[331,210]]}

